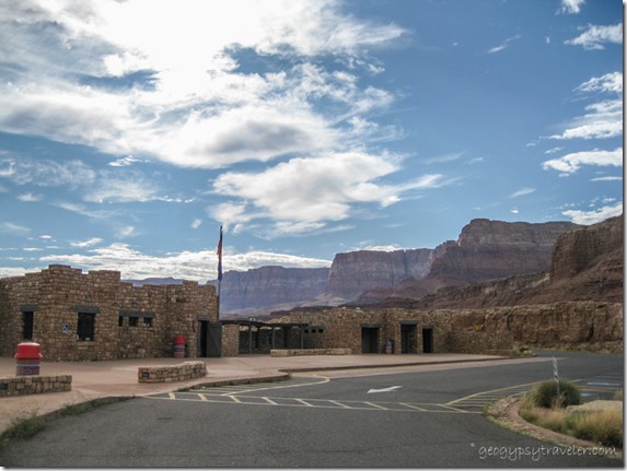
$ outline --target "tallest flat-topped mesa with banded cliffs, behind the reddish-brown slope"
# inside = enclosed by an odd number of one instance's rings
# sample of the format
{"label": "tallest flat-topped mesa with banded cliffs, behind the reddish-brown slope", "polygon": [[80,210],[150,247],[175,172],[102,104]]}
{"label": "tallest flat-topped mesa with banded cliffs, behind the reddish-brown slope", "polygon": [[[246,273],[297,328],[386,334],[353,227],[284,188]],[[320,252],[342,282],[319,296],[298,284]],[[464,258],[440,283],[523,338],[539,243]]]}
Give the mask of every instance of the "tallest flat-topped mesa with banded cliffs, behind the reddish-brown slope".
{"label": "tallest flat-topped mesa with banded cliffs, behind the reddish-brown slope", "polygon": [[446,242],[436,249],[427,276],[365,292],[357,304],[379,303],[386,297],[419,298],[445,286],[546,270],[557,238],[578,227],[581,226],[568,222],[473,220],[462,229],[457,242]]}

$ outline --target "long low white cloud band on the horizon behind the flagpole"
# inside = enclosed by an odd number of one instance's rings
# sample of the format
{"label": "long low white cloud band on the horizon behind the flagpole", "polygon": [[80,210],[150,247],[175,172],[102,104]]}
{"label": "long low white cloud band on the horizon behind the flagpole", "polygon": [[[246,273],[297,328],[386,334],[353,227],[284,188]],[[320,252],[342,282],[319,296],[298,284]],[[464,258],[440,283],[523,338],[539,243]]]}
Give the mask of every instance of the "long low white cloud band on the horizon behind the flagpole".
{"label": "long low white cloud band on the horizon behind the flagpole", "polygon": [[[184,280],[206,282],[217,278],[218,257],[216,250],[183,251],[169,254],[164,257],[155,257],[142,254],[127,244],[112,244],[90,250],[85,255],[55,255],[39,259],[43,263],[67,263],[83,270],[116,270],[121,272],[121,278],[127,280],[146,278],[174,276]],[[330,260],[299,257],[286,254],[266,251],[249,251],[245,254],[232,254],[229,247],[224,248],[224,271],[246,271],[268,264],[279,264],[294,268],[320,268],[330,267]],[[0,275],[4,270],[0,269]],[[24,271],[15,269],[14,275],[23,274]]]}

